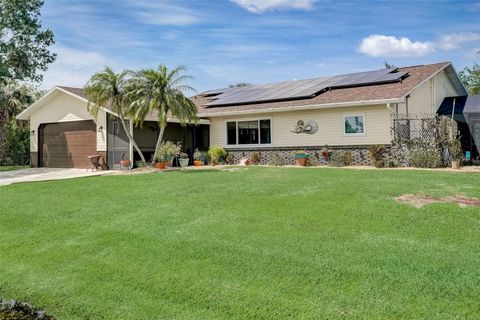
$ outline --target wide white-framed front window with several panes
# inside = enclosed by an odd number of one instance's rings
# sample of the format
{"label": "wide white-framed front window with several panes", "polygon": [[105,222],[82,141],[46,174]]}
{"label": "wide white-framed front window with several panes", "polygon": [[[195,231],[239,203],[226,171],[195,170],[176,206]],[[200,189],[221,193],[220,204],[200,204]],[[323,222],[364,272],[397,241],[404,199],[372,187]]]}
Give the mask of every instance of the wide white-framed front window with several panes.
{"label": "wide white-framed front window with several panes", "polygon": [[227,122],[227,145],[270,144],[270,119]]}

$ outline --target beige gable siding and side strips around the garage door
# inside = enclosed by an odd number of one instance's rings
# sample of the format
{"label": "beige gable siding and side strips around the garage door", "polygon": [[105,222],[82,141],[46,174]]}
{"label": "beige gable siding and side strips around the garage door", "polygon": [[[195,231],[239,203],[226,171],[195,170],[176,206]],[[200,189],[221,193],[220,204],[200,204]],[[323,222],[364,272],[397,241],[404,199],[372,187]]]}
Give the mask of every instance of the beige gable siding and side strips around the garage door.
{"label": "beige gable siding and side strips around the garage door", "polygon": [[[35,135],[30,137],[30,151],[38,151],[38,127],[42,123],[94,120],[87,110],[87,103],[67,93],[58,92],[44,105],[39,106],[30,116],[30,130]],[[106,114],[101,111],[97,119],[97,151],[107,150]],[[99,127],[102,130],[98,130]]]}

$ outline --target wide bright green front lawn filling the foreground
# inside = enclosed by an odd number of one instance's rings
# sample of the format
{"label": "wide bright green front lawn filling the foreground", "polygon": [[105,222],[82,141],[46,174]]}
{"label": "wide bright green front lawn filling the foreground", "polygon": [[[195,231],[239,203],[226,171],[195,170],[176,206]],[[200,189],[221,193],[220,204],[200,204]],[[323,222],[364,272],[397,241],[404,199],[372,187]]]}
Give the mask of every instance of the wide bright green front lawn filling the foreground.
{"label": "wide bright green front lawn filling the foreground", "polygon": [[478,319],[480,175],[191,170],[0,187],[0,296],[60,319]]}

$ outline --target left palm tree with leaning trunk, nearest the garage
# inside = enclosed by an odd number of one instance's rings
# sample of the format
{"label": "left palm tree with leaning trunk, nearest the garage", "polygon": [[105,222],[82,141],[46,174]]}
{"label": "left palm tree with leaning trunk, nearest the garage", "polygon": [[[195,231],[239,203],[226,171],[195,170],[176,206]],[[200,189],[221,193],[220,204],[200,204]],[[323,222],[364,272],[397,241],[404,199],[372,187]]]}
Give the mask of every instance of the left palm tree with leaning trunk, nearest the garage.
{"label": "left palm tree with leaning trunk, nearest the garage", "polygon": [[111,68],[105,67],[102,72],[95,73],[87,82],[85,94],[89,101],[88,108],[95,117],[100,108],[106,107],[108,103],[111,104],[112,111],[120,118],[123,130],[125,130],[130,143],[140,155],[142,162],[146,163],[145,157],[135,142],[125,121],[125,112],[128,107],[126,92],[132,74],[133,73],[128,70],[115,73]]}

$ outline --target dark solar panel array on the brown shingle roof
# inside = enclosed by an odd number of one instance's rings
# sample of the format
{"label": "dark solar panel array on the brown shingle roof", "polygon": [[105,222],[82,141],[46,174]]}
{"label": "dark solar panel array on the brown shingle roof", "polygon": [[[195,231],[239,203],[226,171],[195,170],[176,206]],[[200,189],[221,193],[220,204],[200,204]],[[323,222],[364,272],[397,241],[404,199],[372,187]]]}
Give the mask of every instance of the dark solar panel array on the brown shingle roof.
{"label": "dark solar panel array on the brown shingle roof", "polygon": [[407,72],[398,72],[396,69],[381,69],[333,77],[217,89],[202,95],[209,98],[207,107],[294,100],[314,97],[329,89],[396,82],[406,75]]}

